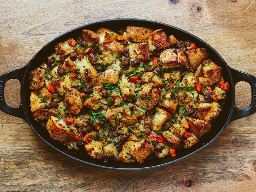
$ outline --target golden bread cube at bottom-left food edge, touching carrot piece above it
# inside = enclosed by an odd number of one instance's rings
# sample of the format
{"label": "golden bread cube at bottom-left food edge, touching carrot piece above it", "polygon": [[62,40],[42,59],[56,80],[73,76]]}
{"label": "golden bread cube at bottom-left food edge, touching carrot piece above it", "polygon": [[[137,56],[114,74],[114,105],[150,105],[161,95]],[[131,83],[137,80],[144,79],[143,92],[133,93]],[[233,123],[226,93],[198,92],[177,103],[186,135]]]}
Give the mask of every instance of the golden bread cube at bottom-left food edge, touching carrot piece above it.
{"label": "golden bread cube at bottom-left food edge, touching carrot piece above it", "polygon": [[92,140],[85,144],[85,150],[92,158],[101,159],[103,157],[102,143],[100,141]]}

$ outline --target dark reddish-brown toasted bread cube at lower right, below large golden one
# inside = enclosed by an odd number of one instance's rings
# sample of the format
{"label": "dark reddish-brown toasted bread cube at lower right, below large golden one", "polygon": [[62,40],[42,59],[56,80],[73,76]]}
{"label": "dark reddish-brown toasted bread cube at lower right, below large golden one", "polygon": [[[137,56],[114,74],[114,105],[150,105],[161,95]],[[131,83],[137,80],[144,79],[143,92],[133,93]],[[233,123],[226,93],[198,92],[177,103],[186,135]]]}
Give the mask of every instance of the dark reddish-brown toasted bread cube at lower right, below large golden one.
{"label": "dark reddish-brown toasted bread cube at lower right, below large golden one", "polygon": [[189,129],[198,139],[200,139],[204,133],[211,130],[211,123],[192,118],[189,120]]}

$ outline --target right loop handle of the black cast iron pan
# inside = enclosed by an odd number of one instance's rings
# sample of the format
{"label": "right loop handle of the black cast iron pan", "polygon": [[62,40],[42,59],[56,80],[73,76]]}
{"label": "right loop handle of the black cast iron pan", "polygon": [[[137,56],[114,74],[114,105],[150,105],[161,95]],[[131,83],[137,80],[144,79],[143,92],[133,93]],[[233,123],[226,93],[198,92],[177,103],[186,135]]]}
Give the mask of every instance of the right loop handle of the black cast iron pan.
{"label": "right loop handle of the black cast iron pan", "polygon": [[234,80],[234,86],[240,81],[245,81],[251,86],[251,104],[245,109],[240,109],[234,104],[231,117],[231,121],[234,121],[243,117],[247,117],[256,112],[256,78],[253,75],[232,69],[231,67],[230,71]]}

